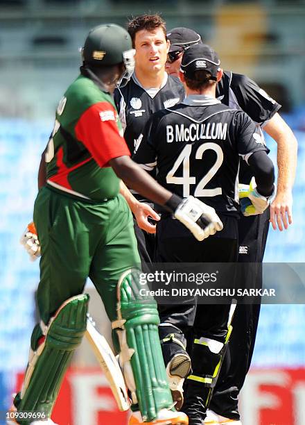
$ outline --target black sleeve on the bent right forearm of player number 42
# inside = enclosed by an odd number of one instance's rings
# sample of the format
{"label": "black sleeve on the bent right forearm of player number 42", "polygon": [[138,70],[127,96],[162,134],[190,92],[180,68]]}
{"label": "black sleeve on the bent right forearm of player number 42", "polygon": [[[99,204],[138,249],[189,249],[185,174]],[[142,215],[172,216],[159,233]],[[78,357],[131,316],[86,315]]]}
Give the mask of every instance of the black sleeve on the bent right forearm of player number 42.
{"label": "black sleeve on the bent right forearm of player number 42", "polygon": [[252,153],[248,164],[253,171],[257,191],[264,197],[269,197],[273,192],[273,183],[275,182],[275,167],[272,160],[265,151],[257,151]]}

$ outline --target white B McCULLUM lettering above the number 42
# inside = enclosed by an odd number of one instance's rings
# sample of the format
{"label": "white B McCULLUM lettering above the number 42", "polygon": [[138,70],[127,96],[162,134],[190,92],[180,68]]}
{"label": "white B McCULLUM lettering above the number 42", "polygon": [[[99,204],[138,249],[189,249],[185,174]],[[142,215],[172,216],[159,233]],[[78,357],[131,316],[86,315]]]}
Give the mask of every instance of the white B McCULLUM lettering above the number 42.
{"label": "white B McCULLUM lettering above the number 42", "polygon": [[[195,142],[195,140],[225,140],[227,138],[227,123],[221,122],[207,124],[175,124],[166,126],[166,142]],[[258,142],[259,143],[259,142]]]}

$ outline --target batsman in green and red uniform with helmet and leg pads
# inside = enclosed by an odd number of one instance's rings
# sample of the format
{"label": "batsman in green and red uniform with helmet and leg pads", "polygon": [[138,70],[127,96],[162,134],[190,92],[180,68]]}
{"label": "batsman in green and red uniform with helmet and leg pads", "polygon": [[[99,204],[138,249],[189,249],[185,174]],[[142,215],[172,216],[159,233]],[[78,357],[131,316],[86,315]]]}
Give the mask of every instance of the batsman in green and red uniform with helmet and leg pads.
{"label": "batsman in green and red uniform with helmet and leg pads", "polygon": [[[83,65],[61,99],[45,151],[46,184],[37,195],[34,222],[41,244],[37,303],[18,412],[49,417],[73,351],[86,329],[89,276],[112,321],[132,409],[130,425],[188,424],[176,412],[159,344],[155,300],[142,297],[132,215],[119,194],[120,178],[175,215],[202,240],[221,228],[213,208],[182,200],[157,184],[130,159],[112,100],[116,84],[134,69],[127,31],[115,24],[90,31]],[[141,292],[143,293],[143,292]],[[19,424],[40,424],[17,419]]]}

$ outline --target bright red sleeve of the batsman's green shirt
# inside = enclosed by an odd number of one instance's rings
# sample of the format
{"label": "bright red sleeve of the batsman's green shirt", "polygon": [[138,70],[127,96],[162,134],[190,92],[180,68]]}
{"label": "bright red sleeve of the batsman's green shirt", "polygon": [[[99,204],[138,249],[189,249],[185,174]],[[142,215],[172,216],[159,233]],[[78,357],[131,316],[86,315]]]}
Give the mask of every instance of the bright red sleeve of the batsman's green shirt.
{"label": "bright red sleeve of the batsman's green shirt", "polygon": [[98,102],[82,113],[75,127],[76,138],[85,144],[100,167],[107,167],[113,158],[130,156],[127,144],[119,133],[117,115],[111,103]]}

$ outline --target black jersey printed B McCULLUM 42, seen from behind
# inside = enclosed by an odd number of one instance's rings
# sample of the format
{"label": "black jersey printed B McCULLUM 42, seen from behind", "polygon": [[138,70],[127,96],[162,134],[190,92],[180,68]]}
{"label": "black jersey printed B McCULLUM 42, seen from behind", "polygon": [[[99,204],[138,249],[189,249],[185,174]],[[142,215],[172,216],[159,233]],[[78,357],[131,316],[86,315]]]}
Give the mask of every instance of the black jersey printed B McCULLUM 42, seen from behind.
{"label": "black jersey printed B McCULLUM 42, seen from behind", "polygon": [[156,168],[157,181],[180,197],[237,216],[240,158],[256,151],[267,148],[247,114],[195,95],[150,118],[134,161]]}

